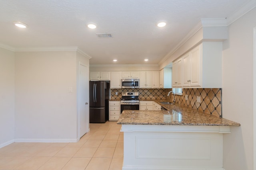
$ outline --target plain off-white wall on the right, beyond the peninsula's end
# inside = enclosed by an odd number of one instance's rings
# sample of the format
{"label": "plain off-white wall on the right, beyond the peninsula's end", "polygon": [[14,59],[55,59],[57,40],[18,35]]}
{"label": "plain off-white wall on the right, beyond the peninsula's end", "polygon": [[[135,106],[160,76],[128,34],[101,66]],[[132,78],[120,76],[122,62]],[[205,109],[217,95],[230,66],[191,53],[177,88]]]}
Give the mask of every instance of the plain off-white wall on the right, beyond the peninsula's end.
{"label": "plain off-white wall on the right, beyond the peninsula's end", "polygon": [[256,8],[228,27],[223,43],[223,117],[236,121],[224,135],[225,170],[253,169],[253,27]]}

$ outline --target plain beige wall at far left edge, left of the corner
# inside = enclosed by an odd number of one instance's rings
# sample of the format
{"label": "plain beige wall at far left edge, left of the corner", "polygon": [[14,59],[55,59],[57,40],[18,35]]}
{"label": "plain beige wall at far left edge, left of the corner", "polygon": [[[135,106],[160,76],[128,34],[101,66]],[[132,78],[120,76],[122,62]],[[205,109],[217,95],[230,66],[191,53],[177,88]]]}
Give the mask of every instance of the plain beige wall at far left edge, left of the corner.
{"label": "plain beige wall at far left edge, left of the corner", "polygon": [[14,139],[14,52],[0,48],[0,148]]}

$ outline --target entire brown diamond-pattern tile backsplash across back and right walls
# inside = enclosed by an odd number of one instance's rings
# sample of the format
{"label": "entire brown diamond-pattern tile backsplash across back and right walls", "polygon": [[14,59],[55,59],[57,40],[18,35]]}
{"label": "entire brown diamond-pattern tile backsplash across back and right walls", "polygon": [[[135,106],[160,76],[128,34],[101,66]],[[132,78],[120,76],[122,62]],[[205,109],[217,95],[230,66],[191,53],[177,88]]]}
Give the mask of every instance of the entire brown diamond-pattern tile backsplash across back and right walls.
{"label": "entire brown diamond-pattern tile backsplash across back and right walls", "polygon": [[[172,95],[167,96],[172,89],[162,88],[120,88],[110,89],[111,99],[121,99],[122,92],[139,92],[140,99],[161,99],[172,102]],[[118,92],[118,95],[116,95]],[[185,100],[188,95],[188,100]],[[201,102],[196,102],[196,96],[200,96]],[[184,88],[182,96],[175,96],[175,103],[185,107],[191,107],[206,113],[222,117],[222,88]]]}

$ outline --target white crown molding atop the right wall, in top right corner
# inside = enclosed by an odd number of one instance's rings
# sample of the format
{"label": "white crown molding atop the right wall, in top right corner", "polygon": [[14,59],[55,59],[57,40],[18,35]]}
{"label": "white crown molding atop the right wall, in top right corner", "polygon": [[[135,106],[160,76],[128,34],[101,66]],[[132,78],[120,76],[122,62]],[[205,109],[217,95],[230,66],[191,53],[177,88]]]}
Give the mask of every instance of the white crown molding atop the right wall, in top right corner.
{"label": "white crown molding atop the right wall, in top right corner", "polygon": [[227,25],[232,24],[234,21],[238,20],[244,14],[252,10],[253,8],[256,7],[256,0],[250,0],[246,4],[244,4],[239,10],[234,12],[231,16],[227,17]]}

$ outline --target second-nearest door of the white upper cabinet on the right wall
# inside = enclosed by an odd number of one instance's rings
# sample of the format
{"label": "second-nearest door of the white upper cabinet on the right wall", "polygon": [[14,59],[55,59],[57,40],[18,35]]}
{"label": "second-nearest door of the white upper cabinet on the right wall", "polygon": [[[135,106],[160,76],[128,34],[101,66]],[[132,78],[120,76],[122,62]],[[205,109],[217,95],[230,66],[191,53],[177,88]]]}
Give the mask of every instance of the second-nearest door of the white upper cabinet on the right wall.
{"label": "second-nearest door of the white upper cabinet on the right wall", "polygon": [[188,87],[190,86],[190,53],[187,53],[182,57],[182,72],[182,86]]}

